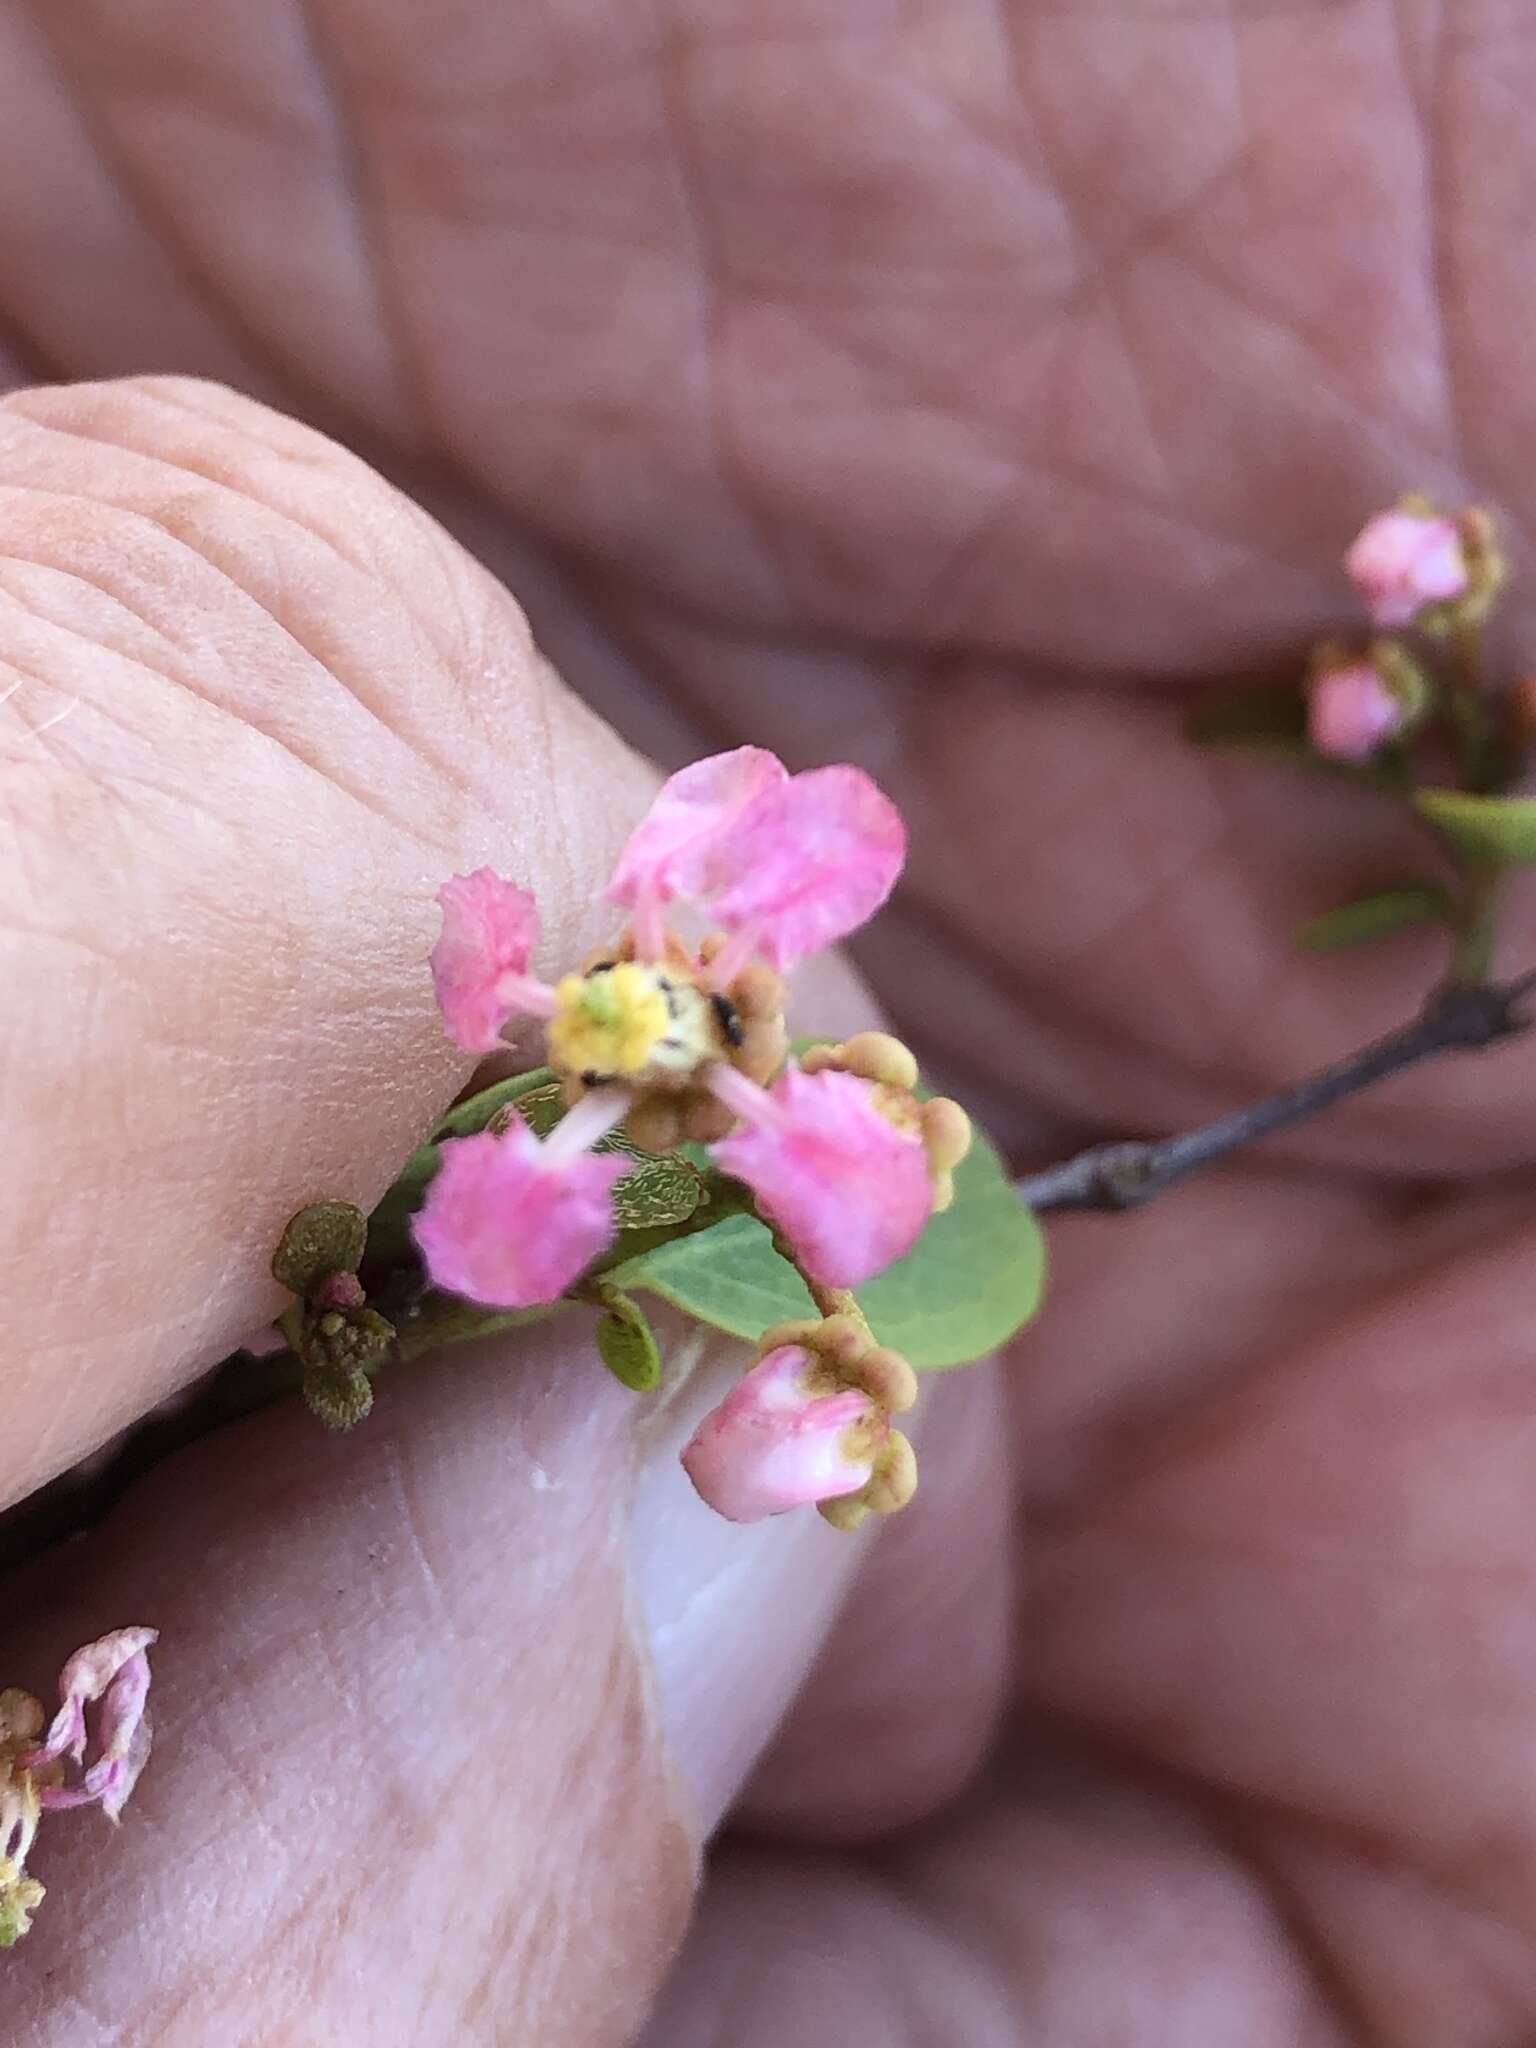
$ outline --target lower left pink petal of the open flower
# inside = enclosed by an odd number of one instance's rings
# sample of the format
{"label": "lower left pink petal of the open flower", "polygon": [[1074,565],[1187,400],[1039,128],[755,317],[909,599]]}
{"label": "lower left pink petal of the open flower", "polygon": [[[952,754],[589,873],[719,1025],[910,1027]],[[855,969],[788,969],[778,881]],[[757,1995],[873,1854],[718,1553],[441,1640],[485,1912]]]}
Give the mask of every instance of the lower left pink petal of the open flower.
{"label": "lower left pink petal of the open flower", "polygon": [[432,1284],[492,1309],[557,1300],[612,1243],[625,1167],[623,1153],[551,1157],[522,1120],[449,1139],[412,1219]]}

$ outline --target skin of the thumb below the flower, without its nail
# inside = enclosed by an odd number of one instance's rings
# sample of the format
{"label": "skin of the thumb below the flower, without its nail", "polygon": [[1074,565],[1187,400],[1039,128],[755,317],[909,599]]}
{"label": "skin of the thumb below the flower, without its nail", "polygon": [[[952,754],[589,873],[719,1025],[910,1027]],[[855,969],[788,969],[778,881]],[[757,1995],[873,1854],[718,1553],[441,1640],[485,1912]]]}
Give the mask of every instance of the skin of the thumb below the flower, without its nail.
{"label": "skin of the thumb below the flower, without its nail", "polygon": [[629,1397],[596,1378],[580,1339],[477,1348],[344,1440],[274,1409],[12,1587],[8,1677],[98,1614],[162,1632],[123,1829],[33,1853],[16,2038],[627,2040],[694,1839],[629,1616]]}

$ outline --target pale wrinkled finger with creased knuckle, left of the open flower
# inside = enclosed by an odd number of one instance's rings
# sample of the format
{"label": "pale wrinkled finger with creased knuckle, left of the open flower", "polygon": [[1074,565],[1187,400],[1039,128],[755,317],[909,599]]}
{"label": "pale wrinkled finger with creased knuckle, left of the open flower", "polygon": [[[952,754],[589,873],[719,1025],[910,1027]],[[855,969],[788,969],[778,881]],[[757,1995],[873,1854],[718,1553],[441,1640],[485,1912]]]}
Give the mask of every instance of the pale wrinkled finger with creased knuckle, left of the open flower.
{"label": "pale wrinkled finger with creased knuckle, left of the open flower", "polygon": [[281,1305],[467,1063],[424,973],[487,860],[551,961],[645,770],[365,465],[184,383],[0,406],[0,1497]]}

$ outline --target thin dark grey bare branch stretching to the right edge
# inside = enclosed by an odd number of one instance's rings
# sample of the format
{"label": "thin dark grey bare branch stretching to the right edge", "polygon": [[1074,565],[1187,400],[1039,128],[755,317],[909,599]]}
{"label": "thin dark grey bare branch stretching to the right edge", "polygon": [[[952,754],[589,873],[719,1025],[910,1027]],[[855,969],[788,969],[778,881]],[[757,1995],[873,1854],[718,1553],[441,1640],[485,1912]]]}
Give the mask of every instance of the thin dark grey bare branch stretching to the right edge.
{"label": "thin dark grey bare branch stretching to the right edge", "polygon": [[1536,989],[1536,973],[1518,981],[1481,983],[1477,987],[1448,985],[1438,989],[1421,1014],[1399,1030],[1350,1053],[1348,1059],[1305,1081],[1294,1081],[1262,1102],[1251,1102],[1212,1124],[1184,1130],[1171,1139],[1126,1139],[1112,1145],[1092,1145],[1061,1165],[1026,1174],[1014,1182],[1022,1202],[1042,1208],[1141,1208],[1174,1182],[1196,1174],[1202,1165],[1225,1159],[1255,1139],[1274,1130],[1305,1124],[1335,1102],[1346,1102],[1376,1081],[1442,1053],[1479,1053],[1503,1038],[1530,1030],[1532,1018],[1522,999]]}

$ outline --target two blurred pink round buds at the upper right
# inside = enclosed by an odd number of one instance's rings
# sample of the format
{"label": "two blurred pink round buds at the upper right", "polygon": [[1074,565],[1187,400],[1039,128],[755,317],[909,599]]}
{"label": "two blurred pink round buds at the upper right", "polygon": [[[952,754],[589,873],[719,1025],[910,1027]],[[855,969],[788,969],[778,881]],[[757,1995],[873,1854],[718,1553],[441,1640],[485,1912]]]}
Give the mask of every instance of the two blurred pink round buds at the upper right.
{"label": "two blurred pink round buds at the upper right", "polygon": [[[1481,508],[1446,518],[1425,498],[1405,498],[1368,520],[1343,567],[1382,635],[1477,625],[1505,573]],[[1430,696],[1423,670],[1399,641],[1376,639],[1366,651],[1327,643],[1309,678],[1307,737],[1327,760],[1368,762],[1413,731]]]}

